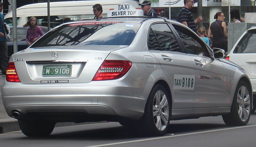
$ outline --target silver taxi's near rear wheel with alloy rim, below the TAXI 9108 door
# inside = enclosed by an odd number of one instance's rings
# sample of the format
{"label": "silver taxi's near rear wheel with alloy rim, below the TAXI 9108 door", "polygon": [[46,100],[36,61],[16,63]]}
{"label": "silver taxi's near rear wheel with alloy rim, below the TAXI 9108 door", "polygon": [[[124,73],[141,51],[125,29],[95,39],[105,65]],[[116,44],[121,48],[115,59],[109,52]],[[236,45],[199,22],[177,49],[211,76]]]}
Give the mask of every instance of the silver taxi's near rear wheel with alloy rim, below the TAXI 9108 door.
{"label": "silver taxi's near rear wheel with alloy rim, below the TAXI 9108 door", "polygon": [[169,128],[171,102],[162,85],[152,88],[141,120],[143,133],[149,136],[162,136]]}

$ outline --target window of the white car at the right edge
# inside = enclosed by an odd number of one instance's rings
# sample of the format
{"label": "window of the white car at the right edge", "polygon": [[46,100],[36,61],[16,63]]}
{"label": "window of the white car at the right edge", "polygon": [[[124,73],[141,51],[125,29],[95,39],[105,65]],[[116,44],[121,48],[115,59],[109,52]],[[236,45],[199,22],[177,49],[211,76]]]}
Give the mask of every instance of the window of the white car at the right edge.
{"label": "window of the white car at the right edge", "polygon": [[248,31],[238,42],[233,53],[256,53],[256,30]]}

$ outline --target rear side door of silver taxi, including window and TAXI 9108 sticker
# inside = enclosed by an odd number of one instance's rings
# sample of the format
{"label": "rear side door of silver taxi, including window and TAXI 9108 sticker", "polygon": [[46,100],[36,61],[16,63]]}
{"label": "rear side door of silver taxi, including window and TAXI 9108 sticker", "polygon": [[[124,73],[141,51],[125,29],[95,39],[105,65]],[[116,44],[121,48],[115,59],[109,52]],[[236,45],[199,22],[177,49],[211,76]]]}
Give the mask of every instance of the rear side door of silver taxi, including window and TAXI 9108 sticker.
{"label": "rear side door of silver taxi, including window and TAXI 9108 sticker", "polygon": [[188,55],[182,53],[168,24],[151,25],[148,49],[172,84],[172,108],[193,108],[195,67]]}

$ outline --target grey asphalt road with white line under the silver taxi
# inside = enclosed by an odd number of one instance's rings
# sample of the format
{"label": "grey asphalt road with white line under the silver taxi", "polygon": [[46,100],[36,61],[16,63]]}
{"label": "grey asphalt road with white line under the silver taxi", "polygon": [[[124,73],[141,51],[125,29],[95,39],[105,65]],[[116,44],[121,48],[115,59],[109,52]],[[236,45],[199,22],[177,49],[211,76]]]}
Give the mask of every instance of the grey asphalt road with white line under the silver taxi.
{"label": "grey asphalt road with white line under the silver taxi", "polygon": [[253,147],[256,114],[246,126],[226,126],[221,116],[171,121],[168,134],[143,137],[117,122],[55,128],[48,137],[27,137],[22,132],[0,134],[0,146],[10,147]]}

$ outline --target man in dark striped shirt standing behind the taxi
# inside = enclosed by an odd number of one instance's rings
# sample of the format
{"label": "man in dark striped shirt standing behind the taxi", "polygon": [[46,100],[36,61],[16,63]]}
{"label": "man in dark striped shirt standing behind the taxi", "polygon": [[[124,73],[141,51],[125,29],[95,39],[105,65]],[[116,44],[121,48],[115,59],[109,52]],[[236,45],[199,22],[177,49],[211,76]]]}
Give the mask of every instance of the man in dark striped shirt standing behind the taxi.
{"label": "man in dark striped shirt standing behind the taxi", "polygon": [[184,7],[180,9],[179,22],[187,25],[190,29],[196,32],[196,24],[201,22],[203,18],[201,16],[194,20],[190,9],[194,5],[194,0],[184,0]]}

